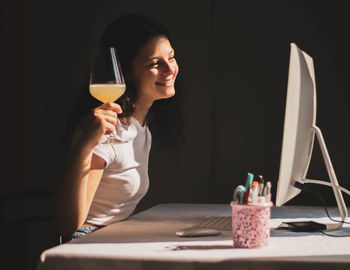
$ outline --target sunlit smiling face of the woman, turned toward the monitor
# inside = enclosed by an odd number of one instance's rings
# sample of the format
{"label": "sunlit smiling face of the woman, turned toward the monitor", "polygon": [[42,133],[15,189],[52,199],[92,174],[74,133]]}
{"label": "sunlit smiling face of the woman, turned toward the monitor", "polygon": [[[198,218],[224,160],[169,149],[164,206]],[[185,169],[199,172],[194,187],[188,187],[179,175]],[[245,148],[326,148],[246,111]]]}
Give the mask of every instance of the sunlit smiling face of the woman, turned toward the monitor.
{"label": "sunlit smiling face of the woman, turned toward the monitor", "polygon": [[178,71],[169,40],[163,36],[149,40],[132,63],[131,79],[137,90],[136,102],[152,103],[175,95]]}

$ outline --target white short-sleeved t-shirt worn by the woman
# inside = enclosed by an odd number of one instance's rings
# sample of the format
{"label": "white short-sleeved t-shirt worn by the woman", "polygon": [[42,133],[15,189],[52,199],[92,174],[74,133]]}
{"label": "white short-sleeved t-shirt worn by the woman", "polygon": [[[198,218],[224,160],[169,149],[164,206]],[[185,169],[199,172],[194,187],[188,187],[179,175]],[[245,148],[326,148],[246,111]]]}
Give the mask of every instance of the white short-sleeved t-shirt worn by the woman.
{"label": "white short-sleeved t-shirt worn by the woman", "polygon": [[94,154],[106,161],[101,182],[86,222],[108,225],[127,218],[146,194],[149,186],[148,157],[151,133],[133,117],[130,125],[118,121],[113,136],[118,142],[97,145]]}

